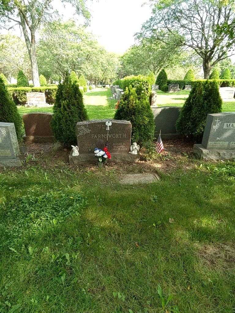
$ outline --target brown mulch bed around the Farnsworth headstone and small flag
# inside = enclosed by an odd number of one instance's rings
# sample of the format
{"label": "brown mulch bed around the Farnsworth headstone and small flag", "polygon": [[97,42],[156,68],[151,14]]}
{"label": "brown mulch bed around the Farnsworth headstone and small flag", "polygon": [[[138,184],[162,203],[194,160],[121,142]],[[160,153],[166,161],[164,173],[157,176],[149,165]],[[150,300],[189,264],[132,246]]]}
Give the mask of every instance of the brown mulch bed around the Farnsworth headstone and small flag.
{"label": "brown mulch bed around the Farnsworth headstone and small flag", "polygon": [[[185,140],[164,140],[163,144],[165,150],[153,161],[146,161],[142,149],[139,162],[108,162],[105,168],[115,170],[120,174],[132,174],[171,172],[177,168],[183,168],[186,171],[195,166],[195,161],[192,158],[193,143]],[[27,148],[28,153],[35,156],[35,161],[30,161],[29,165],[40,165],[48,169],[61,166],[70,168],[68,163],[70,149],[63,149],[58,143],[32,143]],[[79,172],[95,171],[97,166],[80,165],[75,169]]]}

